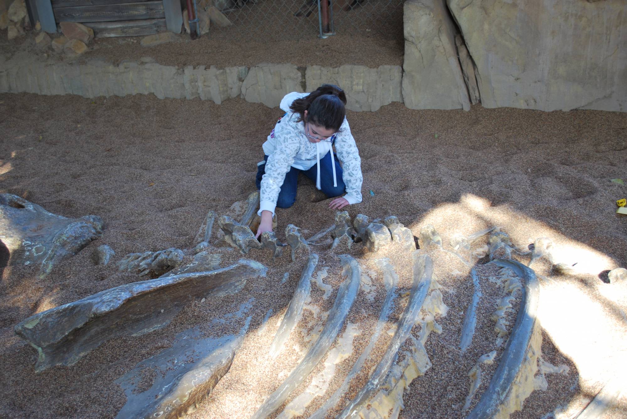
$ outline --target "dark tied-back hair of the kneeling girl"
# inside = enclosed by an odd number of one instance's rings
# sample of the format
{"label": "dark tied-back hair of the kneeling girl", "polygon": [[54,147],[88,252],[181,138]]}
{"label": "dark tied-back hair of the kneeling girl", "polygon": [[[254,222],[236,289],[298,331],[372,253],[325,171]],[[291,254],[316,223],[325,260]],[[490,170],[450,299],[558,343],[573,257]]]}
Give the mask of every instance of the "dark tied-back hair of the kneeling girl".
{"label": "dark tied-back hair of the kneeling girl", "polygon": [[327,130],[339,130],[346,116],[346,95],[335,85],[322,85],[301,99],[292,102],[290,109],[300,113],[298,122],[305,120]]}

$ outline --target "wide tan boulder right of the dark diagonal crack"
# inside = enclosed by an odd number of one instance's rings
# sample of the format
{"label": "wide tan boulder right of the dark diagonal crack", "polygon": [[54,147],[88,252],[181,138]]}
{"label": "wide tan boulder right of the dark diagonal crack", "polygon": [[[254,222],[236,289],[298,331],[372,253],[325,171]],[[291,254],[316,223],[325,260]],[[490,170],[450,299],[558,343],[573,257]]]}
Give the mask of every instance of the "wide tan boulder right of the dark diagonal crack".
{"label": "wide tan boulder right of the dark diagonal crack", "polygon": [[483,106],[627,110],[623,0],[448,0],[448,6],[477,65]]}

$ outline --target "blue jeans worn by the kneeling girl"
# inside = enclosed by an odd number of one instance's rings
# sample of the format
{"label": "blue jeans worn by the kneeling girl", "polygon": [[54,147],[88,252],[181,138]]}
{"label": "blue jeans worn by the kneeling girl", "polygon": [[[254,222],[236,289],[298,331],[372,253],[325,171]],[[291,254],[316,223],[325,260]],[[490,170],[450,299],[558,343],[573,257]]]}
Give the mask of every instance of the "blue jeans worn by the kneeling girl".
{"label": "blue jeans worn by the kneeling girl", "polygon": [[[342,167],[337,160],[337,155],[333,153],[335,158],[335,178],[337,180],[337,186],[333,186],[333,167],[331,166],[331,152],[327,153],[324,157],[320,158],[320,188],[328,198],[337,197],[346,192],[346,185],[342,179]],[[268,161],[268,156],[263,156],[263,161]],[[261,189],[261,178],[266,172],[265,163],[261,164],[257,168],[257,178],[255,184],[257,189]],[[315,180],[318,174],[318,163],[313,165],[309,170],[300,170],[292,167],[290,171],[285,173],[285,180],[281,186],[281,192],[278,194],[277,207],[289,208],[294,205],[296,200],[296,189],[298,187],[298,173],[303,173],[310,178],[315,184]]]}

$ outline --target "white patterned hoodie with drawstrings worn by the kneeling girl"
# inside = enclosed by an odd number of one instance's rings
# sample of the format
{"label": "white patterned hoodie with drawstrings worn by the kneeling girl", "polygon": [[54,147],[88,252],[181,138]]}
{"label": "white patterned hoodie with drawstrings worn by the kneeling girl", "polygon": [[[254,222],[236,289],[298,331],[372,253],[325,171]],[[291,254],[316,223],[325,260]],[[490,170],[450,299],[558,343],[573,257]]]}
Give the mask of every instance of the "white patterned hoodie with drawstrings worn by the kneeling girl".
{"label": "white patterned hoodie with drawstrings worn by the kneeling girl", "polygon": [[[318,142],[312,143],[305,135],[305,124],[297,122],[299,113],[290,110],[292,102],[307,96],[309,93],[292,92],[285,95],[281,101],[280,108],[287,112],[280,118],[272,130],[268,139],[263,143],[263,152],[268,156],[265,175],[261,179],[260,208],[261,211],[268,210],[274,215],[277,207],[278,194],[281,191],[285,173],[290,168],[295,167],[300,170],[308,170],[318,163],[318,176],[316,187],[320,189],[320,158],[333,150],[332,143]],[[361,158],[355,139],[350,134],[349,123],[344,118],[340,130],[335,133],[335,152],[337,158],[342,162],[342,179],[346,185],[346,199],[349,204],[359,204],[361,202],[361,184],[364,180],[361,174]],[[334,186],[337,186],[335,178],[335,158],[331,159],[333,165]],[[263,164],[260,162],[259,164]]]}

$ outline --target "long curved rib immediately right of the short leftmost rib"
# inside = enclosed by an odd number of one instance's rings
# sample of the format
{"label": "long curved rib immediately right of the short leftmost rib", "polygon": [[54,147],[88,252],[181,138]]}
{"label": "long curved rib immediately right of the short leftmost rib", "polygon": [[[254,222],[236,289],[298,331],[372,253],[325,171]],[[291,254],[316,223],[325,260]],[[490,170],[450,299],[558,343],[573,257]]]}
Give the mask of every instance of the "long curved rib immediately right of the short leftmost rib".
{"label": "long curved rib immediately right of the short leftmost rib", "polygon": [[290,393],[307,378],[322,357],[329,351],[331,344],[335,341],[342,326],[344,326],[344,321],[359,290],[361,269],[357,261],[352,257],[348,255],[339,257],[345,266],[345,272],[347,272],[348,277],[342,282],[337,291],[337,297],[335,297],[335,302],[329,311],[329,318],[327,318],[324,329],[322,329],[315,343],[308,349],[302,361],[292,370],[292,373],[277,390],[266,399],[255,415],[252,416],[252,419],[261,419],[271,415],[287,400]]}

